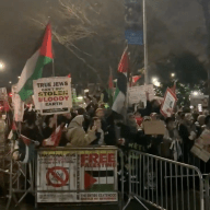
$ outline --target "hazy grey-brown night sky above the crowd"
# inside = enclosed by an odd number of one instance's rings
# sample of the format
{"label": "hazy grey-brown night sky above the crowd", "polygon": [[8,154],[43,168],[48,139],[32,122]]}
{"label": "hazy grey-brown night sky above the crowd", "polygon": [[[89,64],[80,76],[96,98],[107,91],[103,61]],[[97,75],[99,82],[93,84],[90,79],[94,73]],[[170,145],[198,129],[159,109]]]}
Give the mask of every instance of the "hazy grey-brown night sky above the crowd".
{"label": "hazy grey-brown night sky above the crowd", "polygon": [[[102,77],[107,75],[109,66],[114,70],[117,69],[125,47],[125,40],[121,38],[124,16],[122,11],[119,11],[120,7],[117,7],[121,2],[122,0],[107,0],[106,8],[109,10],[106,9],[106,13],[103,13],[103,22],[108,27],[94,28],[97,32],[96,43],[94,37],[74,42],[81,50],[93,55],[93,57],[83,56],[91,66],[98,69]],[[69,22],[65,20],[63,11],[57,0],[0,0],[0,61],[5,65],[4,70],[0,72],[0,86],[5,86],[10,80],[13,83],[18,82],[18,77],[42,34],[43,27],[31,19],[47,23],[47,18],[50,16],[51,24],[61,33],[69,26]],[[110,28],[115,30],[110,31]],[[180,55],[183,51],[189,51],[195,54],[199,61],[207,61],[206,25],[202,8],[197,0],[148,0],[148,30],[151,71],[155,69],[155,63],[160,59],[170,54]],[[120,36],[116,43],[112,34],[114,31],[118,31]],[[112,36],[109,37],[108,34]],[[94,73],[84,63],[55,39],[54,48],[57,75],[71,72],[75,78],[74,82],[80,81],[82,77],[79,72],[86,74],[90,72],[93,77]],[[139,47],[139,50],[142,51],[142,47]],[[140,66],[135,68],[138,69]],[[45,72],[45,75],[50,75],[50,72]]]}

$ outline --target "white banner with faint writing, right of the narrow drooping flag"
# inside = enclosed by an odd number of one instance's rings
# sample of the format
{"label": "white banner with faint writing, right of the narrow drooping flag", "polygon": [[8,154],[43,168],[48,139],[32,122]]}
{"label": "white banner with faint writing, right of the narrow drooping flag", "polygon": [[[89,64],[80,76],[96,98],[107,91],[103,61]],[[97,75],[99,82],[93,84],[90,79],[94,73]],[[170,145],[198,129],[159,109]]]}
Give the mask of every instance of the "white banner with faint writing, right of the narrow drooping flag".
{"label": "white banner with faint writing, right of the narrow drooping flag", "polygon": [[144,106],[147,105],[147,96],[145,92],[149,93],[149,100],[154,98],[154,89],[153,84],[148,84],[148,85],[141,85],[141,86],[132,86],[129,88],[129,104],[138,104],[140,101],[144,103]]}

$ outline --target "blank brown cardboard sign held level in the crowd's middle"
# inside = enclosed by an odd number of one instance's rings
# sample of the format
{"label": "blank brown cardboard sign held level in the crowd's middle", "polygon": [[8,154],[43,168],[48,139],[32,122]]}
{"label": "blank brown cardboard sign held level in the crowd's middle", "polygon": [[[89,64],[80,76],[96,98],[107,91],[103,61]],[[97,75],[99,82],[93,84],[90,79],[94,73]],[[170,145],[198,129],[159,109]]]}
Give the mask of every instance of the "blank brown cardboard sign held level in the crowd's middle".
{"label": "blank brown cardboard sign held level in the crowd's middle", "polygon": [[162,120],[144,121],[143,129],[145,135],[164,135],[165,125]]}

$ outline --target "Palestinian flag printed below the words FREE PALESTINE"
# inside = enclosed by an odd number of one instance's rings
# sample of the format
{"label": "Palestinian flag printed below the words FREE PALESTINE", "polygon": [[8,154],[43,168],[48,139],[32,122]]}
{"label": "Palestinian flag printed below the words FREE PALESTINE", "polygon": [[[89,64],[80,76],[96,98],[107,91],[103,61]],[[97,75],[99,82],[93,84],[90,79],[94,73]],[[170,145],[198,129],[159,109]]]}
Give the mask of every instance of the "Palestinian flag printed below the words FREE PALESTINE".
{"label": "Palestinian flag printed below the words FREE PALESTINE", "polygon": [[84,171],[84,189],[88,191],[114,191],[115,179],[114,168],[85,168]]}

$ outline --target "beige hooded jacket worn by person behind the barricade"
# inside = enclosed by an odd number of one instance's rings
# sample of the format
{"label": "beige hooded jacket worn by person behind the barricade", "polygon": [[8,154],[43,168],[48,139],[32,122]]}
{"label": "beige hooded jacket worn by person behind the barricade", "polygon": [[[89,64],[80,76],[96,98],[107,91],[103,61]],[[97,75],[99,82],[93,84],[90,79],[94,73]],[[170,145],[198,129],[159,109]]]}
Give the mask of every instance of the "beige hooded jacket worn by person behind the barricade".
{"label": "beige hooded jacket worn by person behind the barricade", "polygon": [[72,147],[86,147],[96,139],[95,131],[84,131],[83,115],[77,116],[69,125],[66,138]]}

